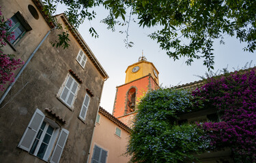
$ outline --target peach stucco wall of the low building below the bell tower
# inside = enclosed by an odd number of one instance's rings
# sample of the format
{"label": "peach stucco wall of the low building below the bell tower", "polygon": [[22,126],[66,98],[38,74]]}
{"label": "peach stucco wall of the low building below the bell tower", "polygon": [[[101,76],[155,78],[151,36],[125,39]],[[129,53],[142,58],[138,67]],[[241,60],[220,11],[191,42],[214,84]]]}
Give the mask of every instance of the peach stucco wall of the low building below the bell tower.
{"label": "peach stucco wall of the low building below the bell tower", "polygon": [[120,128],[121,137],[118,137],[115,134],[115,128],[118,127],[117,124],[114,124],[114,122],[101,113],[98,114],[100,115],[100,122],[96,123],[96,127],[94,129],[94,137],[92,138],[90,147],[89,163],[91,163],[91,158],[94,153],[94,145],[97,145],[108,152],[106,162],[128,162],[130,160],[130,156],[124,156],[124,153],[126,152],[126,146],[128,145],[130,134]]}

